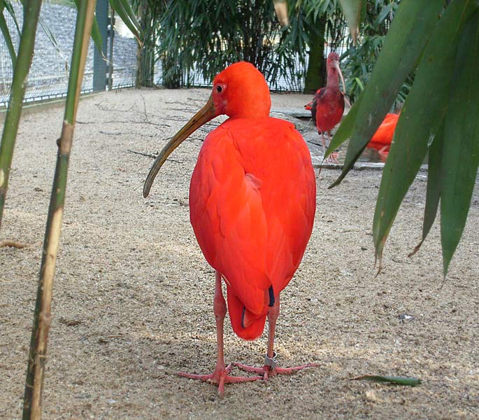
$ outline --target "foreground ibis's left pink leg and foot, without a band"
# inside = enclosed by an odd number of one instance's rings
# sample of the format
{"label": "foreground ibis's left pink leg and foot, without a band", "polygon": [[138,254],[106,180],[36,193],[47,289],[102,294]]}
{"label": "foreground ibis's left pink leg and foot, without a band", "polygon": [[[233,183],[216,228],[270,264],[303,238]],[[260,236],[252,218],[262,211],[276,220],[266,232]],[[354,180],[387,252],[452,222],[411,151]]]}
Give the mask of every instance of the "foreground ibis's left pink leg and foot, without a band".
{"label": "foreground ibis's left pink leg and foot, without a band", "polygon": [[216,357],[216,367],[214,372],[210,374],[192,374],[192,373],[186,373],[186,372],[178,372],[178,375],[180,375],[180,377],[185,377],[190,379],[200,379],[201,381],[208,381],[208,382],[212,382],[213,384],[217,384],[218,394],[222,395],[222,393],[224,392],[224,384],[229,384],[234,382],[257,381],[258,379],[262,379],[262,377],[260,376],[256,376],[256,377],[229,376],[229,372],[231,372],[231,365],[226,367],[226,365],[224,364],[223,323],[224,323],[224,316],[226,315],[227,307],[226,307],[226,302],[224,301],[223,293],[221,290],[221,273],[220,272],[216,272],[213,311],[215,313],[215,319],[216,319],[216,340],[217,340],[217,357]]}

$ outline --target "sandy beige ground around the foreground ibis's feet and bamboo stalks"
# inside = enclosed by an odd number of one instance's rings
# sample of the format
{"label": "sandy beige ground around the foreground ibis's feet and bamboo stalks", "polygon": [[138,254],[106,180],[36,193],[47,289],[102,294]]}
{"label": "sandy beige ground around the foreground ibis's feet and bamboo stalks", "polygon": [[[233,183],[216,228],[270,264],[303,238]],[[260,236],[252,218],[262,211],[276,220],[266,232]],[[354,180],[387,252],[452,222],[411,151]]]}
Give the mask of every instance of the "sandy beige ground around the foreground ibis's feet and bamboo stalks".
{"label": "sandy beige ground around the foreground ibis's feet and bamboo stalks", "polygon": [[[69,172],[52,307],[45,419],[472,419],[479,414],[479,195],[448,279],[437,225],[418,255],[425,174],[392,228],[375,278],[371,225],[380,171],[324,169],[315,228],[282,294],[280,365],[320,367],[267,382],[211,384],[174,372],[215,366],[214,273],[196,244],[188,186],[199,132],[142,188],[165,139],[207,90],[125,90],[83,99]],[[273,95],[273,108],[309,97]],[[0,417],[20,419],[36,282],[62,107],[25,114],[0,239]],[[437,224],[437,223],[436,223]],[[442,286],[442,287],[441,287]],[[401,314],[413,321],[403,322]],[[227,362],[260,365],[266,335],[243,342],[225,323]],[[234,370],[234,373],[239,373]],[[415,388],[350,381],[419,377]]]}

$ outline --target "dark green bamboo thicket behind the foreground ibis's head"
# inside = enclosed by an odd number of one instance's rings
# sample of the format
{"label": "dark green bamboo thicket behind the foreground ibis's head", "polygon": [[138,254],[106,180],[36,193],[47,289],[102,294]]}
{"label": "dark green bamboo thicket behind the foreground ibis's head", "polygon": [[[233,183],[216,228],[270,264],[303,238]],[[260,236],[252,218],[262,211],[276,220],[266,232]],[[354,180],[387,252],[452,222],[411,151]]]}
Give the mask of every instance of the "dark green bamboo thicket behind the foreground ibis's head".
{"label": "dark green bamboo thicket behind the foreground ibis's head", "polygon": [[[273,87],[280,79],[298,90],[318,22],[334,0],[289,1],[288,27],[281,28],[273,1],[169,1],[159,25],[164,80],[190,85],[192,72],[205,80],[240,60],[252,62]],[[174,84],[173,83],[173,84]]]}

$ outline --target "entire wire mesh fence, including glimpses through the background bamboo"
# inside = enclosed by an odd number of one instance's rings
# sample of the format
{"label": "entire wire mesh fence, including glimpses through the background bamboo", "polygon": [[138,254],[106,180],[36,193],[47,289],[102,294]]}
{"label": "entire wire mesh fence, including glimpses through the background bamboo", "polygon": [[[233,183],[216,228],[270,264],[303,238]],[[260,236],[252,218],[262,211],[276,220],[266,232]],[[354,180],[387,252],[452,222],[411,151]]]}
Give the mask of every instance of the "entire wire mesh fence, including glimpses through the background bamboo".
{"label": "entire wire mesh fence, including glimpses through the background bamboo", "polygon": [[[22,3],[15,1],[15,19],[6,10],[3,15],[6,18],[8,29],[12,36],[15,50],[20,43],[20,30],[22,28]],[[137,71],[137,44],[128,29],[120,19],[115,22],[115,31],[108,36],[106,55],[108,66],[111,66],[111,80],[106,83],[110,89],[130,87],[135,85]],[[40,25],[38,25],[35,43],[34,59],[31,63],[31,70],[27,80],[25,102],[36,102],[44,99],[54,99],[66,96],[69,77],[69,65],[73,48],[73,38],[76,25],[76,8],[73,4],[59,3],[57,0],[44,0],[41,8]],[[338,27],[341,25],[338,25]],[[334,32],[334,31],[333,31]],[[324,50],[325,55],[331,49],[340,48],[345,50],[345,45],[336,45],[331,36]],[[113,48],[112,47],[113,43]],[[83,78],[82,92],[92,92],[94,79],[94,43],[90,41],[85,75]],[[340,52],[340,53],[341,53]],[[269,80],[271,90],[275,91],[296,91],[303,90],[303,75],[306,72],[306,64],[301,64],[299,57],[292,62],[287,73],[266,78]],[[105,75],[106,80],[107,74]],[[6,106],[10,95],[10,85],[13,78],[13,67],[8,48],[3,36],[0,36],[0,106]],[[106,80],[107,81],[107,80]],[[162,60],[157,59],[154,69],[154,83],[162,85]],[[209,87],[211,80],[205,80],[198,71],[190,71],[185,80],[181,81],[182,86],[187,87]]]}

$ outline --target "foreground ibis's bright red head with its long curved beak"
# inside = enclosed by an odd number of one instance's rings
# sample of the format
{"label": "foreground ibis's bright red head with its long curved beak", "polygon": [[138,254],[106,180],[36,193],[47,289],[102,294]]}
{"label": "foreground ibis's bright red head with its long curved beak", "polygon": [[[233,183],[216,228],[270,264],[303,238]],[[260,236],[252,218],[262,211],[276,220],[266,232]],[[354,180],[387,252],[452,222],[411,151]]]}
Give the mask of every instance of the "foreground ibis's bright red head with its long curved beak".
{"label": "foreground ibis's bright red head with its long curved beak", "polygon": [[230,118],[266,118],[270,108],[269,88],[262,73],[248,62],[228,66],[214,78],[213,92],[206,105],[173,136],[153,162],[143,186],[143,197],[148,197],[155,176],[169,155],[201,125],[223,114]]}

